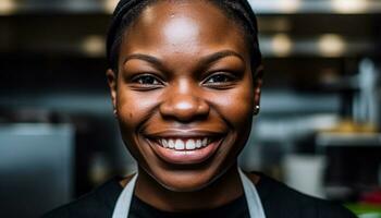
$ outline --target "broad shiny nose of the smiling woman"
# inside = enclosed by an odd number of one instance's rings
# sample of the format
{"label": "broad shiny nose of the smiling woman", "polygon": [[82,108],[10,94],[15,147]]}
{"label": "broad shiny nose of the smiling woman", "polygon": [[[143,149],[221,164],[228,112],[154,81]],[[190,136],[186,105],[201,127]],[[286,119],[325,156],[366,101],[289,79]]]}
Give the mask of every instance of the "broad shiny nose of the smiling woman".
{"label": "broad shiny nose of the smiling woman", "polygon": [[164,119],[180,122],[192,122],[206,119],[210,107],[200,94],[185,86],[168,92],[165,101],[160,106],[160,113]]}

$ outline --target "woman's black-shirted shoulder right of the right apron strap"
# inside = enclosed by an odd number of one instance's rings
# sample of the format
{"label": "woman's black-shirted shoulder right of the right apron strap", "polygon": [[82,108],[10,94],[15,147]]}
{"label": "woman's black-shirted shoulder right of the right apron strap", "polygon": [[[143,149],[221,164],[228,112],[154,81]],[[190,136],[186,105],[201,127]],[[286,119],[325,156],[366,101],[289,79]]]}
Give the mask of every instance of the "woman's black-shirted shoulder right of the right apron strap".
{"label": "woman's black-shirted shoulder right of the right apron strap", "polygon": [[261,173],[256,187],[268,218],[356,218],[340,204],[311,197]]}

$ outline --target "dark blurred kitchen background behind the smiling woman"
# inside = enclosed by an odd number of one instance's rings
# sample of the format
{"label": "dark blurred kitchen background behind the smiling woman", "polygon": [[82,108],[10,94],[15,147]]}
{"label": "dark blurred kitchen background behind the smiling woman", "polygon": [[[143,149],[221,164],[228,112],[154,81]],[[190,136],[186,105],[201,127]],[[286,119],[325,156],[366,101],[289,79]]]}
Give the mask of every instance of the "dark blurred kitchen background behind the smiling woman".
{"label": "dark blurred kitchen background behind the smiling woman", "polygon": [[[266,77],[242,167],[381,217],[381,1],[250,3]],[[0,217],[135,170],[105,77],[115,4],[0,0]]]}

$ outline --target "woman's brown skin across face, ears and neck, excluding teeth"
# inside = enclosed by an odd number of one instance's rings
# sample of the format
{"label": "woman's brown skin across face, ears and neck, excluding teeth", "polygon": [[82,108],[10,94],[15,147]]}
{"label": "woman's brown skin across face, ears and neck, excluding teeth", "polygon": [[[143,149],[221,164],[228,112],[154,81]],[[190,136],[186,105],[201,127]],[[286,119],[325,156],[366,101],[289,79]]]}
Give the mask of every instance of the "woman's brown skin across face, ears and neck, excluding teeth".
{"label": "woman's brown skin across face, ears and neck, excluding teeth", "polygon": [[[118,75],[107,72],[122,137],[138,162],[137,197],[187,211],[243,194],[237,156],[261,85],[253,71],[243,29],[217,7],[160,1],[142,12],[123,38]],[[192,152],[159,143],[204,137],[210,145]]]}

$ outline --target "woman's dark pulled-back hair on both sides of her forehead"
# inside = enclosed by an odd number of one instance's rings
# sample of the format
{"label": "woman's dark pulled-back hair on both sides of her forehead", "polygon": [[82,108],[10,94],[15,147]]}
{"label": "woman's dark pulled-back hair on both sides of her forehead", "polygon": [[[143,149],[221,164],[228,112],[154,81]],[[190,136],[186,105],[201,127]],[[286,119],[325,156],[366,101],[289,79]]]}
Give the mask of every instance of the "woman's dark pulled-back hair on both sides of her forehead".
{"label": "woman's dark pulled-back hair on both sides of her forehead", "polygon": [[[138,17],[140,12],[158,0],[121,0],[112,15],[107,38],[107,59],[109,68],[118,72],[118,59],[124,32]],[[257,19],[247,0],[209,0],[219,7],[226,16],[234,19],[243,28],[246,41],[251,49],[251,69],[261,64],[261,53],[258,44]]]}

